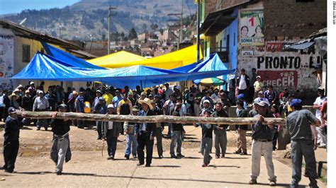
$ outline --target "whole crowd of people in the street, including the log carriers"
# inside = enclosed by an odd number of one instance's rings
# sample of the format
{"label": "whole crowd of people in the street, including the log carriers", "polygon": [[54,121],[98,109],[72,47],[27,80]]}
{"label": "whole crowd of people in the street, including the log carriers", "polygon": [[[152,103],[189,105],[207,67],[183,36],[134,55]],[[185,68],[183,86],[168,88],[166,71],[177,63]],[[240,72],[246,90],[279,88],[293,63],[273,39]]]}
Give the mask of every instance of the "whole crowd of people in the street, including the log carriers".
{"label": "whole crowd of people in the street, including the log carriers", "polygon": [[[6,122],[4,140],[4,169],[13,172],[15,158],[18,150],[18,134],[23,124],[34,124],[37,130],[43,127],[52,128],[53,144],[50,156],[56,164],[57,174],[62,174],[64,161],[71,158],[69,151],[69,129],[74,125],[79,129],[89,126],[89,122],[81,119],[55,119],[58,112],[82,112],[95,114],[124,114],[134,116],[155,116],[159,114],[177,117],[201,116],[207,117],[258,117],[256,124],[252,125],[252,173],[250,184],[257,183],[260,170],[260,158],[264,155],[267,163],[270,185],[276,184],[274,165],[271,159],[272,151],[276,150],[276,141],[281,130],[280,125],[272,122],[264,122],[266,117],[281,117],[281,112],[287,118],[287,127],[292,141],[293,155],[293,182],[295,186],[301,180],[302,155],[310,155],[311,151],[308,140],[313,141],[315,146],[326,146],[326,105],[327,98],[323,88],[318,88],[319,97],[313,107],[316,114],[308,110],[302,110],[302,101],[296,99],[284,89],[279,95],[272,86],[264,87],[261,77],[252,71],[253,78],[240,71],[240,76],[235,79],[235,90],[220,90],[218,88],[206,87],[200,90],[198,86],[191,86],[181,91],[180,86],[155,86],[142,90],[137,86],[130,90],[124,88],[113,88],[102,86],[99,89],[67,88],[65,91],[61,86],[50,86],[44,90],[44,82],[39,86],[29,82],[28,86],[18,86],[12,93],[4,90],[0,97],[0,118]],[[265,90],[266,89],[266,90]],[[248,111],[249,104],[252,110]],[[230,114],[229,107],[236,106],[235,114]],[[28,119],[18,118],[16,110],[26,111],[53,111],[50,119]],[[298,119],[301,118],[301,121]],[[102,122],[96,121],[97,139],[106,140],[108,144],[108,160],[113,160],[116,154],[118,136],[125,134],[126,149],[125,158],[138,158],[138,165],[149,167],[152,163],[154,139],[157,140],[157,153],[163,158],[162,131],[168,129],[167,138],[171,139],[169,155],[171,158],[184,158],[181,151],[183,143],[184,125],[179,123],[133,123],[133,122]],[[303,124],[304,126],[301,126]],[[314,127],[314,124],[322,124]],[[225,158],[228,125],[215,124],[194,124],[201,127],[202,139],[199,152],[203,155],[203,167],[211,162],[211,148],[213,141],[215,146],[215,158]],[[307,128],[308,127],[308,128]],[[15,129],[15,130],[14,130]],[[237,125],[237,150],[236,154],[247,155],[246,133],[248,125]],[[15,131],[15,134],[6,134]],[[214,135],[214,139],[213,139]],[[14,141],[15,140],[15,141]],[[301,141],[303,140],[303,141]],[[310,145],[309,145],[310,146]],[[146,151],[146,156],[144,151]],[[146,161],[145,161],[146,159]],[[295,159],[295,161],[294,161]],[[316,181],[316,167],[310,156],[306,160],[306,174],[314,187]],[[315,171],[314,171],[315,170]]]}

